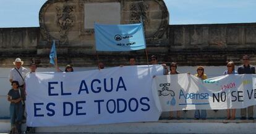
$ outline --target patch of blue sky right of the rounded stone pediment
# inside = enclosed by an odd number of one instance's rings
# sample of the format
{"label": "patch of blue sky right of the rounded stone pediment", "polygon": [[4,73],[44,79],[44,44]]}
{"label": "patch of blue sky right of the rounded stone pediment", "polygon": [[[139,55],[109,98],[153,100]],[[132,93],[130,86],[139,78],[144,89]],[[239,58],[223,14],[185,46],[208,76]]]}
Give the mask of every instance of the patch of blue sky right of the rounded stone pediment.
{"label": "patch of blue sky right of the rounded stone pediment", "polygon": [[170,24],[256,22],[256,0],[164,0]]}

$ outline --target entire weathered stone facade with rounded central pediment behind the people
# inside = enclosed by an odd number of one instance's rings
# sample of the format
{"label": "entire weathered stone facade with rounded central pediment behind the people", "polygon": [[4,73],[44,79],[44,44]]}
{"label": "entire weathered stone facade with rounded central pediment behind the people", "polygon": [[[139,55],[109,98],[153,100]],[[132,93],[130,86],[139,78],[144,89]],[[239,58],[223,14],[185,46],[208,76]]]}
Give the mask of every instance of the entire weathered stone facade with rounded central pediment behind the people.
{"label": "entire weathered stone facade with rounded central pediment behind the people", "polygon": [[136,55],[147,64],[145,50],[96,52],[94,23],[128,24],[143,19],[147,51],[160,63],[181,66],[241,63],[256,48],[256,23],[169,25],[163,0],[49,0],[40,9],[40,27],[0,28],[0,67],[12,66],[15,57],[49,67],[49,51],[56,40],[59,66],[96,66],[97,55],[106,66],[126,64]]}

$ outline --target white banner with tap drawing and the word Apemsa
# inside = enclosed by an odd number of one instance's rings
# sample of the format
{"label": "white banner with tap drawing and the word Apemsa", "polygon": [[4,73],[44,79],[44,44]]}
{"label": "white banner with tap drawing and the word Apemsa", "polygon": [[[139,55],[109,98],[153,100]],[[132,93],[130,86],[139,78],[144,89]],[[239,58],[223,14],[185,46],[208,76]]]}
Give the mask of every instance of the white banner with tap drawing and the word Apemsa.
{"label": "white banner with tap drawing and the word Apemsa", "polygon": [[156,76],[163,111],[238,109],[256,104],[256,75],[230,74],[202,80],[190,74]]}

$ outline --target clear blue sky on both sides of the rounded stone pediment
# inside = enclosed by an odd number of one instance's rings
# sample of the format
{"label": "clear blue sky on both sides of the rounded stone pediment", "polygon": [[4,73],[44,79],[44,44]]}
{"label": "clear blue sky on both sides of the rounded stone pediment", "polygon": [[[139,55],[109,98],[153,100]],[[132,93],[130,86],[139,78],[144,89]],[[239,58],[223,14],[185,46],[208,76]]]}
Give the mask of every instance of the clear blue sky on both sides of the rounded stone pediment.
{"label": "clear blue sky on both sides of the rounded stone pediment", "polygon": [[[0,0],[0,27],[39,26],[46,0]],[[256,22],[256,0],[164,0],[170,24]]]}

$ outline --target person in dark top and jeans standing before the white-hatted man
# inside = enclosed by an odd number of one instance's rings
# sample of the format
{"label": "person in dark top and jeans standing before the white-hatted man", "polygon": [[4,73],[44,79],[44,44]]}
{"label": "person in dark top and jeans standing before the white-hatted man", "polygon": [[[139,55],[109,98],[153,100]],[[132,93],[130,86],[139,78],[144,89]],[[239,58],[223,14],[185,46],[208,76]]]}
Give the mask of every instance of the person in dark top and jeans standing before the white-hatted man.
{"label": "person in dark top and jeans standing before the white-hatted man", "polygon": [[21,133],[22,115],[23,115],[23,93],[19,89],[19,82],[12,81],[12,89],[9,90],[7,100],[10,104],[11,131],[17,130]]}

